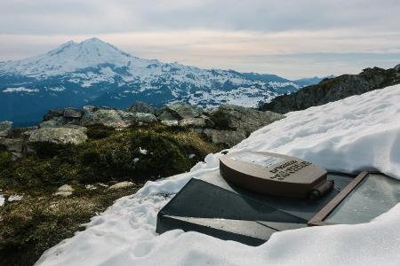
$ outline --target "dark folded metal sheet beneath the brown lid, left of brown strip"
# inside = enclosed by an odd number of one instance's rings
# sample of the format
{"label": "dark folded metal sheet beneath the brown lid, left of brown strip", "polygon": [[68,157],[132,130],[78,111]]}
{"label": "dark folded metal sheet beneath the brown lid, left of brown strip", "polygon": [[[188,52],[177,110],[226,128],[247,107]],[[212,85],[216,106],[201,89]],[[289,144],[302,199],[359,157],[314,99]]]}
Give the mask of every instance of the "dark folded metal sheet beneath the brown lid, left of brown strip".
{"label": "dark folded metal sheet beneath the brown lid, left of brown strip", "polygon": [[296,200],[247,192],[228,184],[218,170],[192,178],[157,215],[156,232],[198,231],[259,246],[275,231],[306,227],[351,176],[328,175],[335,188],[320,200]]}

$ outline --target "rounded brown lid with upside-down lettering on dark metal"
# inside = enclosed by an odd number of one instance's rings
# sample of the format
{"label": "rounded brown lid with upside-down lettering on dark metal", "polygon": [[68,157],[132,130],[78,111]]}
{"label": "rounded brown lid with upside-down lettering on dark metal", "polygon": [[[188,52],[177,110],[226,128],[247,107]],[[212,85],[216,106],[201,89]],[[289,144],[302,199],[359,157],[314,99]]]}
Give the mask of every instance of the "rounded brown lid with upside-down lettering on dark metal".
{"label": "rounded brown lid with upside-down lettering on dark metal", "polygon": [[284,198],[316,199],[332,189],[324,169],[277,153],[228,153],[220,158],[220,175],[249,191]]}

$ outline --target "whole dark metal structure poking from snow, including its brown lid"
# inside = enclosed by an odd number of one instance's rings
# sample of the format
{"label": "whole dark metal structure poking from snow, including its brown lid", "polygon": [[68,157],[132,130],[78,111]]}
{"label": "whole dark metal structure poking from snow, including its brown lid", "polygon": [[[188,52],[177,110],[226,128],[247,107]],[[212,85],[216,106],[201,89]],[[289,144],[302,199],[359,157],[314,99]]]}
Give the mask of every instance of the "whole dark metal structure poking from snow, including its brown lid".
{"label": "whole dark metal structure poking from snow, including its brown lid", "polygon": [[158,212],[156,232],[197,231],[259,246],[276,231],[367,223],[397,202],[400,181],[380,173],[326,173],[283,154],[228,153],[220,169],[197,173]]}

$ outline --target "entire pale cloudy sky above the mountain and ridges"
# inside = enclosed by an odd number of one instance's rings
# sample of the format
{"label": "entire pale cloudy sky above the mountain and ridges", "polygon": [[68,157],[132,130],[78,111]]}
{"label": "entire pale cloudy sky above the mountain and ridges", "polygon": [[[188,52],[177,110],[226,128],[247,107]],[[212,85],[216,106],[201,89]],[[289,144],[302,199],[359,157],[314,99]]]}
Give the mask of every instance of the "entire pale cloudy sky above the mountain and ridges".
{"label": "entire pale cloudy sky above the mountain and ridges", "polygon": [[398,0],[0,0],[0,61],[90,37],[145,59],[296,79],[400,64]]}

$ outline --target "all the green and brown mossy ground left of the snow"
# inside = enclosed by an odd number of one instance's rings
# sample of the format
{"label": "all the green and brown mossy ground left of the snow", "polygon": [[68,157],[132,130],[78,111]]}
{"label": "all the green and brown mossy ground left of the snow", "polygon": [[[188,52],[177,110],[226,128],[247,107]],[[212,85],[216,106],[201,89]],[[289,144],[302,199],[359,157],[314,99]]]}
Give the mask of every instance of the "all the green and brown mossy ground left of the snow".
{"label": "all the green and brown mossy ground left of the snow", "polygon": [[[73,236],[82,223],[132,194],[147,180],[188,171],[220,146],[190,129],[162,125],[121,131],[100,126],[88,129],[83,145],[36,143],[36,155],[12,161],[0,147],[0,189],[23,194],[0,208],[0,262],[31,265],[47,248]],[[140,153],[146,149],[147,154]],[[194,156],[192,155],[194,154]],[[135,189],[88,191],[85,184],[132,181]],[[71,184],[71,197],[52,195]]]}

